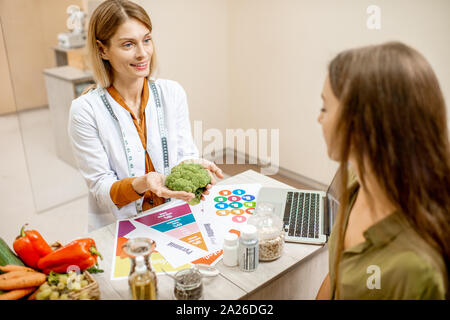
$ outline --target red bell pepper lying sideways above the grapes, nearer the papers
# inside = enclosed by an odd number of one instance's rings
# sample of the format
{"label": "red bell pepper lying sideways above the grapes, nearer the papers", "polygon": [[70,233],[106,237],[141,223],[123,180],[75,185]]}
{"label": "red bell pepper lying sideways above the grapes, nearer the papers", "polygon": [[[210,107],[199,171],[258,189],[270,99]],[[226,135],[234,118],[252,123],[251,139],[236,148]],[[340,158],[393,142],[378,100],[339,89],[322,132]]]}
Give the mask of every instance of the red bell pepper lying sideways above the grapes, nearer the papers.
{"label": "red bell pepper lying sideways above the grapes, nearer the papers", "polygon": [[71,266],[83,271],[97,264],[97,257],[103,259],[93,239],[78,239],[41,258],[38,267],[45,274],[50,271],[66,273]]}

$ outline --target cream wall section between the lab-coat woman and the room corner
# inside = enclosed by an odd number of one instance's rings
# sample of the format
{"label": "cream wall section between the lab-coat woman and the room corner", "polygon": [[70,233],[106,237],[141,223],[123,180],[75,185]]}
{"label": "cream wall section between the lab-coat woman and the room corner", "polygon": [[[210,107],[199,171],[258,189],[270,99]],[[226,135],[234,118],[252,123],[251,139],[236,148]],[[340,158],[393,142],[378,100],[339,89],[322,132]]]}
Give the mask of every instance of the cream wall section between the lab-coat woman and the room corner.
{"label": "cream wall section between the lab-coat woman and the room corner", "polygon": [[186,90],[190,117],[203,129],[229,127],[226,0],[141,0],[149,13],[160,77]]}

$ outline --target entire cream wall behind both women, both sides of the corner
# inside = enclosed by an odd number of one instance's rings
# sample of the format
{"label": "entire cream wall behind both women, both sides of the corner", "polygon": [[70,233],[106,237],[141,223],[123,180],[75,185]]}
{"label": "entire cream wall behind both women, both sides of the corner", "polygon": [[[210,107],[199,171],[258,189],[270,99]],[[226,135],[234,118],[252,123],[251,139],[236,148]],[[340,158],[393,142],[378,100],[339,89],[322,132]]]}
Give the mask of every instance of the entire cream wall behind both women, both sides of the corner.
{"label": "entire cream wall behind both women, both sides of the corner", "polygon": [[[280,166],[329,183],[316,119],[328,62],[339,51],[403,41],[433,65],[450,101],[448,0],[141,0],[161,75],[188,93],[203,130],[280,129]],[[369,5],[381,29],[369,30]],[[205,145],[205,143],[204,143]]]}

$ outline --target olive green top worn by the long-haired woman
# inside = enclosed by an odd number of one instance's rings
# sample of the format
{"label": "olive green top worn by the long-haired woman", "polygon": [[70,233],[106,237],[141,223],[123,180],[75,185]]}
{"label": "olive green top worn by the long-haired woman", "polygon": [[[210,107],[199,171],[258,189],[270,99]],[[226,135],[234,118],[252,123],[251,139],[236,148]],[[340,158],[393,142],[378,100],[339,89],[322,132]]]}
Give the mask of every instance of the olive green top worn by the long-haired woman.
{"label": "olive green top worn by the long-haired woman", "polygon": [[[353,183],[344,230],[358,190],[358,183]],[[328,242],[332,299],[336,299],[336,224]],[[363,235],[365,241],[345,250],[339,262],[339,299],[446,298],[448,275],[443,257],[404,216],[394,212],[369,227]]]}

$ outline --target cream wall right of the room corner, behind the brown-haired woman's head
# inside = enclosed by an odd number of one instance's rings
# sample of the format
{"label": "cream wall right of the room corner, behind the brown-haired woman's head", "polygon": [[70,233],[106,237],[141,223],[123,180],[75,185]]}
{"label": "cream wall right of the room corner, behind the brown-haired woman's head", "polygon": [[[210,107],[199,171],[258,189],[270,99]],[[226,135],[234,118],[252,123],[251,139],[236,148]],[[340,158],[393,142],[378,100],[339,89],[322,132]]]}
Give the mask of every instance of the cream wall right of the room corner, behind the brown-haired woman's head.
{"label": "cream wall right of the room corner, behind the brown-haired woman's head", "polygon": [[[369,30],[369,5],[381,29]],[[230,107],[233,127],[280,129],[280,166],[329,183],[316,119],[328,62],[343,49],[403,41],[433,65],[450,102],[450,1],[232,0]],[[247,120],[251,119],[251,120]]]}

